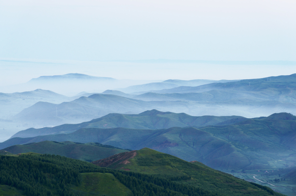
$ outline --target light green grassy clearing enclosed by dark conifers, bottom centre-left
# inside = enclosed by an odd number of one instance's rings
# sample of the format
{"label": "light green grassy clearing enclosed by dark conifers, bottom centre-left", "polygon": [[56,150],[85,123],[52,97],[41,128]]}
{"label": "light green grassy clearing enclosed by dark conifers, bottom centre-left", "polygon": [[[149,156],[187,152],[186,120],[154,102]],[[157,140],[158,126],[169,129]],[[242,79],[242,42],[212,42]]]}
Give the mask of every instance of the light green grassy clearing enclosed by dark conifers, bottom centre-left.
{"label": "light green grassy clearing enclosed by dark conifers, bottom centre-left", "polygon": [[73,189],[80,196],[132,196],[111,173],[82,173],[82,183]]}

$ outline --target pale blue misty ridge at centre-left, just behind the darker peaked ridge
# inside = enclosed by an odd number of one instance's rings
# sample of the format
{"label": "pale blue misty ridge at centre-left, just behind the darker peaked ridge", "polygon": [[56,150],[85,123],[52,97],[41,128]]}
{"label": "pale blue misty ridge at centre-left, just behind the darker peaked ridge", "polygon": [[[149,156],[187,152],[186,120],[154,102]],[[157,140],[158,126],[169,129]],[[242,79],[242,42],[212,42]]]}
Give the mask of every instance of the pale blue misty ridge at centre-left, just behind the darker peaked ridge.
{"label": "pale blue misty ridge at centre-left, just behind the darker peaked ridge", "polygon": [[[39,126],[77,123],[110,113],[137,114],[151,109],[186,108],[183,102],[146,102],[111,94],[93,94],[71,102],[51,104],[38,102],[12,119]],[[176,109],[175,109],[176,110]],[[173,110],[174,111],[174,110]]]}

